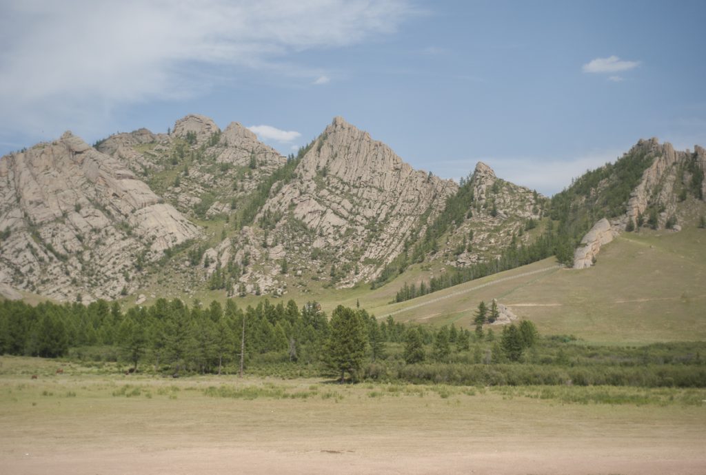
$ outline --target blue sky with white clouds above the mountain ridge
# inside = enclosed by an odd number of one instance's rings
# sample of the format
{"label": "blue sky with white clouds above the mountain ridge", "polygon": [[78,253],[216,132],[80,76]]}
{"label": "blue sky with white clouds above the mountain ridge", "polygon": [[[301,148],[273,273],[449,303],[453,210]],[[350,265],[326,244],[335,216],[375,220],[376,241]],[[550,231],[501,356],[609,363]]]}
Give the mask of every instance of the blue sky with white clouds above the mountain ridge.
{"label": "blue sky with white clouds above the mountain ridge", "polygon": [[3,1],[0,152],[191,112],[288,153],[333,116],[414,167],[556,193],[706,145],[704,1]]}

